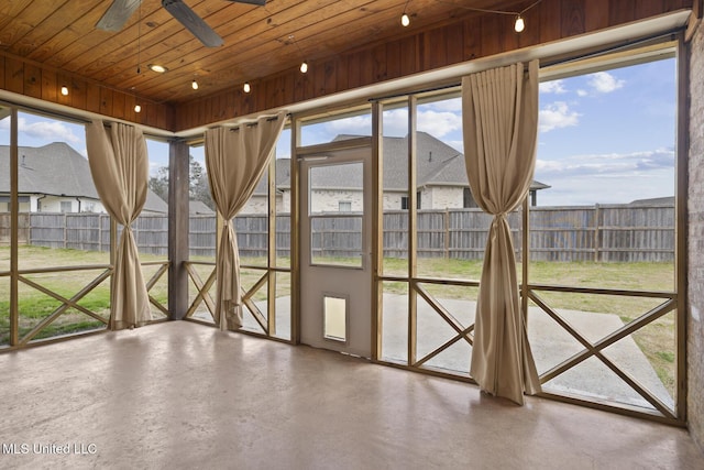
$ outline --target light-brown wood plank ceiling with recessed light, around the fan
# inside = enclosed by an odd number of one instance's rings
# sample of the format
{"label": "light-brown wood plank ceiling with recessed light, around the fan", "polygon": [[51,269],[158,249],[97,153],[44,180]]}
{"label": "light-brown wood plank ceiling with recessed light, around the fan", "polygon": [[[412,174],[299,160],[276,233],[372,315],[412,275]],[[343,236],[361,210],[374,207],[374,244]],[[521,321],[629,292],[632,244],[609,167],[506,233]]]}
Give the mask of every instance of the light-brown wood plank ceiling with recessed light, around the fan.
{"label": "light-brown wood plank ceiling with recessed light, around the fan", "polygon": [[[178,103],[342,52],[535,0],[185,0],[224,40],[206,47],[160,0],[143,0],[119,32],[96,29],[112,0],[2,0],[0,51],[158,103]],[[400,25],[404,12],[409,28]],[[156,74],[148,64],[168,68]],[[138,73],[139,69],[139,73]],[[194,90],[191,81],[199,83]]]}

